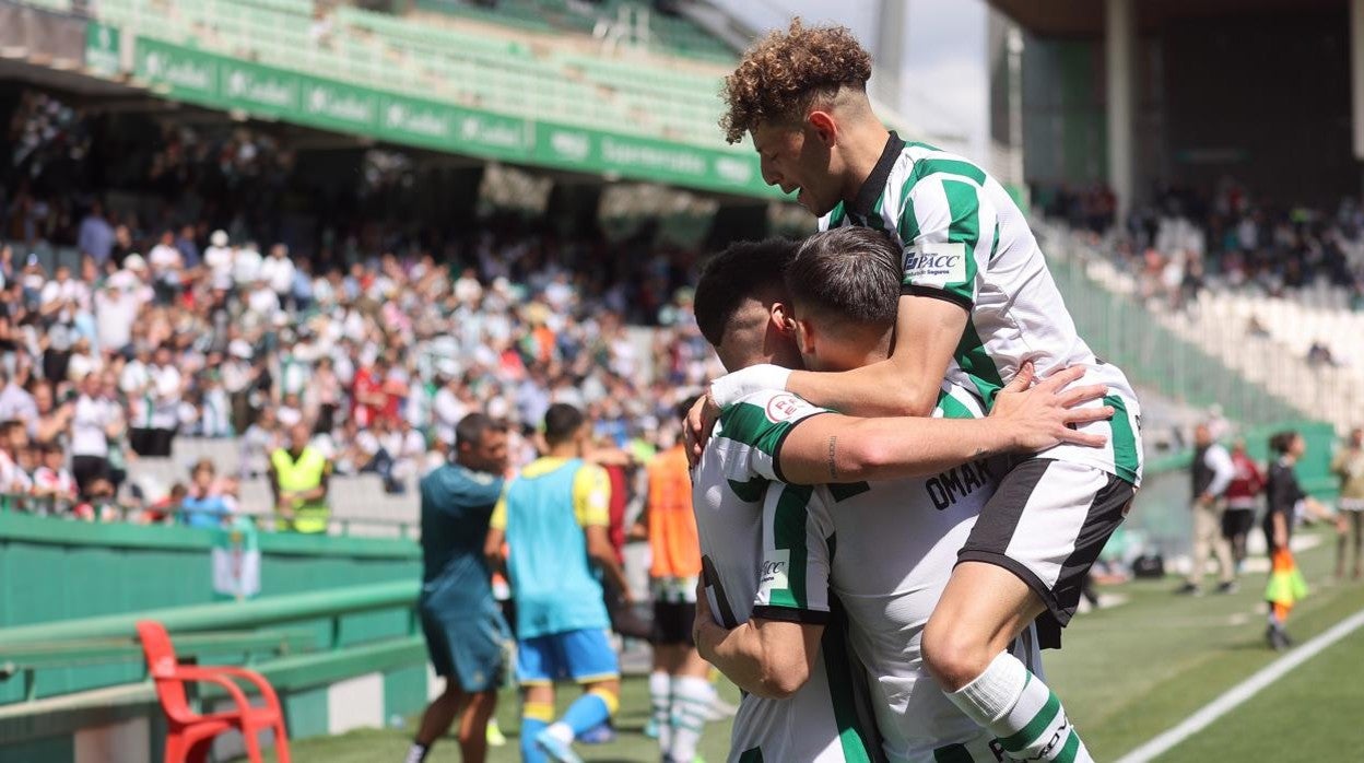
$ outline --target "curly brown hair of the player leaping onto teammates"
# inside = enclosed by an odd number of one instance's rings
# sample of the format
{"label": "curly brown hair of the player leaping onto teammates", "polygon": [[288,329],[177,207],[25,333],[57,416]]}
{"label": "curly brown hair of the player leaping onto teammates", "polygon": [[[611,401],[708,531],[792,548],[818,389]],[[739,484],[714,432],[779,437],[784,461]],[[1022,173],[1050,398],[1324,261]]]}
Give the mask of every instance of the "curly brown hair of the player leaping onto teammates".
{"label": "curly brown hair of the player leaping onto teammates", "polygon": [[832,98],[840,87],[866,90],[870,78],[872,56],[848,27],[806,27],[795,18],[749,48],[724,78],[724,139],[738,143],[758,124],[797,121],[817,98]]}

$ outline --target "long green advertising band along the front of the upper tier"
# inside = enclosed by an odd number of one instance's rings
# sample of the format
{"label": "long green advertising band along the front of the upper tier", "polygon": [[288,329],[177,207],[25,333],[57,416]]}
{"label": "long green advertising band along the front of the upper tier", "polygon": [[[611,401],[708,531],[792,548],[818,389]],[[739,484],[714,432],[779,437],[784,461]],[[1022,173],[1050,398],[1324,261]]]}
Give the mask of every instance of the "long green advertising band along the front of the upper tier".
{"label": "long green advertising band along the front of the upper tier", "polygon": [[[113,33],[116,51],[117,30],[105,29]],[[90,31],[87,37],[97,34]],[[436,152],[746,197],[782,197],[762,183],[752,153],[475,111],[145,37],[135,44],[134,75],[169,98]],[[117,60],[117,53],[112,57]]]}

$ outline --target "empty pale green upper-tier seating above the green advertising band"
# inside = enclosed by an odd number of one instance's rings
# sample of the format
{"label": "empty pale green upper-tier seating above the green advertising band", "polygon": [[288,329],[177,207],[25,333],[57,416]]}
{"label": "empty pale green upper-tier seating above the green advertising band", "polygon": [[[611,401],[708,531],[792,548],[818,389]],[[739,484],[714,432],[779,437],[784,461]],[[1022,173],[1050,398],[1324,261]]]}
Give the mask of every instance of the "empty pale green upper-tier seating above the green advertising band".
{"label": "empty pale green upper-tier seating above the green advertising band", "polygon": [[[505,26],[521,18],[518,7],[509,3],[490,14],[461,4],[460,15],[449,18],[398,16],[352,5],[314,12],[310,1],[190,0],[164,5],[157,0],[104,0],[95,5],[95,16],[138,35],[341,76],[356,85],[435,96],[513,116],[723,146],[715,100],[723,68],[671,55],[612,59],[587,35],[577,49],[592,55],[573,52],[572,40],[551,41],[527,34],[531,30],[525,27],[518,33]],[[471,27],[461,22],[468,14],[501,26]],[[528,16],[582,19],[585,26],[576,30],[582,33],[591,33],[593,23],[591,16],[567,11]],[[557,33],[554,27],[533,31]],[[683,40],[678,49],[690,49],[685,42],[690,38],[678,37]]]}

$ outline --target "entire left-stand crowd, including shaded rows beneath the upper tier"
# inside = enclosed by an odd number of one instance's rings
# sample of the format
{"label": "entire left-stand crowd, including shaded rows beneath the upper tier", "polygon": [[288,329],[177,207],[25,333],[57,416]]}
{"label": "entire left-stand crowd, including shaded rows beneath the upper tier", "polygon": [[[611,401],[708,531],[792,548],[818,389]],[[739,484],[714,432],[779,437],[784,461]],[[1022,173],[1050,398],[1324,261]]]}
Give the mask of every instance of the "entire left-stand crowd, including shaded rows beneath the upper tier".
{"label": "entire left-stand crowd, including shaded rows beneath the upper tier", "polygon": [[[687,306],[694,251],[487,209],[432,227],[397,154],[366,153],[336,187],[241,126],[130,127],[41,91],[10,106],[0,506],[231,510],[297,422],[336,474],[393,493],[471,411],[529,435],[572,403],[603,444],[649,449],[715,374]],[[128,483],[183,437],[233,438],[240,468],[195,470],[175,495]]]}

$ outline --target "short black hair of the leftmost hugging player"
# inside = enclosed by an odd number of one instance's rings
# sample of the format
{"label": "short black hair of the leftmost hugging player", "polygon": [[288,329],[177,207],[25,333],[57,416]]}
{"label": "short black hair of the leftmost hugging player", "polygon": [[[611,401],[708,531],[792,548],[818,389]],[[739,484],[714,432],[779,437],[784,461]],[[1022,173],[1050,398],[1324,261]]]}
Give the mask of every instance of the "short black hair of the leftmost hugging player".
{"label": "short black hair of the leftmost hugging player", "polygon": [[705,341],[719,347],[724,340],[724,326],[739,308],[739,303],[771,287],[783,289],[782,276],[795,257],[797,242],[767,239],[737,242],[701,266],[692,310],[696,325]]}

